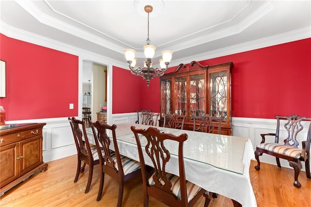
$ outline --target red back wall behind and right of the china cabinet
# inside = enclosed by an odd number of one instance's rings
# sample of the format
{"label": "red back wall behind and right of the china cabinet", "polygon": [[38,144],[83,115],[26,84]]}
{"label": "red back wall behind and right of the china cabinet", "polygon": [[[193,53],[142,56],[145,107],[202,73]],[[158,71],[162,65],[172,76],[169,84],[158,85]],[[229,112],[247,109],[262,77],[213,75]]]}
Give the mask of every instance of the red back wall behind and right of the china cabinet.
{"label": "red back wall behind and right of the china cabinet", "polygon": [[[232,117],[311,117],[311,38],[200,61],[203,66],[225,62],[234,63]],[[142,103],[148,105],[145,100],[153,100],[159,105],[159,79],[150,84],[155,91],[147,93],[148,88],[142,88],[146,94]]]}

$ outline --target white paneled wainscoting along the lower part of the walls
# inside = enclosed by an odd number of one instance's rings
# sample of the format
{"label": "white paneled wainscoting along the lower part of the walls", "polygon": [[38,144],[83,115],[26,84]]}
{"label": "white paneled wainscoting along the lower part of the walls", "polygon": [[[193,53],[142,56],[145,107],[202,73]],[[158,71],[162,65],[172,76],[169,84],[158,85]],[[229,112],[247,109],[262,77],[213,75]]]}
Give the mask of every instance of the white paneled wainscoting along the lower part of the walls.
{"label": "white paneled wainscoting along the lower part of the walls", "polygon": [[[108,123],[118,124],[122,122],[135,123],[137,121],[137,113],[112,114]],[[49,162],[60,159],[69,155],[76,154],[76,147],[72,137],[72,131],[68,118],[41,119],[41,120],[23,120],[23,121],[7,121],[7,123],[26,123],[26,122],[45,122],[43,127],[43,160]],[[281,122],[282,123],[282,122]],[[308,122],[302,122],[304,129],[299,133],[298,140],[307,138]],[[158,125],[158,123],[157,123]],[[275,133],[275,119],[253,119],[253,118],[232,118],[233,136],[250,138],[254,151],[256,145],[260,143],[260,134]],[[280,136],[287,137],[285,130],[280,131]],[[271,137],[271,142],[274,137]],[[280,140],[282,141],[282,139]],[[301,146],[299,146],[301,147]],[[260,162],[266,162],[276,165],[276,159],[273,156],[259,156]],[[280,159],[281,166],[291,168],[287,160]],[[305,163],[302,163],[302,171],[305,171]],[[261,169],[264,170],[264,169]]]}

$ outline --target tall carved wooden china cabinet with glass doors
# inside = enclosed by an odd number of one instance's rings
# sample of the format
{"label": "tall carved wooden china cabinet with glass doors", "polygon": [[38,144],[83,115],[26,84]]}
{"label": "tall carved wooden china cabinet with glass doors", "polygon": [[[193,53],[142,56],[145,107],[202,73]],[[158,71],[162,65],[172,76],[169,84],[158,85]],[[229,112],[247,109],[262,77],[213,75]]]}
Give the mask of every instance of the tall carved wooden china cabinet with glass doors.
{"label": "tall carved wooden china cabinet with glass doors", "polygon": [[[233,63],[202,66],[192,61],[180,64],[161,78],[161,118],[164,114],[186,115],[184,129],[193,130],[193,116],[224,116],[221,134],[232,135],[231,125],[231,69]],[[198,123],[199,124],[199,123]],[[213,133],[218,126],[214,125]]]}

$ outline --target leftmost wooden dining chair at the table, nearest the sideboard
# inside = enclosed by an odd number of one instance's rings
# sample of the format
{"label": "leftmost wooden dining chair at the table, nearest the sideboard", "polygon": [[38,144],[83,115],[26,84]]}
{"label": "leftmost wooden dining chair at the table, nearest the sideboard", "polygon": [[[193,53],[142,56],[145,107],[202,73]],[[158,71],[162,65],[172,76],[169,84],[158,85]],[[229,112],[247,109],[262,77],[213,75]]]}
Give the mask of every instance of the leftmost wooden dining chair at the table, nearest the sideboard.
{"label": "leftmost wooden dining chair at the table, nearest the sideboard", "polygon": [[[75,119],[74,117],[68,118],[72,134],[74,138],[74,142],[77,148],[77,157],[78,157],[78,165],[77,172],[74,178],[74,183],[78,181],[80,173],[83,173],[85,170],[86,164],[88,165],[88,179],[86,184],[85,193],[87,193],[90,189],[92,176],[93,176],[93,168],[94,165],[99,164],[98,153],[95,145],[90,145],[86,135],[86,127],[85,121],[80,121]],[[82,129],[82,131],[81,131]],[[81,162],[83,162],[83,166],[81,167]]]}

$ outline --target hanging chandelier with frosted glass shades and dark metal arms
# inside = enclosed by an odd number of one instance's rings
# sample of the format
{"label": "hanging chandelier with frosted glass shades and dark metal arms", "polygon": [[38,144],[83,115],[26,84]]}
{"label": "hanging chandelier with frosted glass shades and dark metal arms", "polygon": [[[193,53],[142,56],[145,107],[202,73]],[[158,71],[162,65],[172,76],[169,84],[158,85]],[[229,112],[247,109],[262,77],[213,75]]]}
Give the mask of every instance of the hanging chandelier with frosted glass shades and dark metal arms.
{"label": "hanging chandelier with frosted glass shades and dark metal arms", "polygon": [[155,55],[155,46],[150,45],[151,41],[149,39],[149,13],[152,12],[153,7],[151,5],[146,5],[144,7],[145,12],[148,13],[148,36],[146,40],[146,45],[144,48],[144,54],[146,57],[146,60],[144,61],[144,67],[143,68],[136,68],[134,69],[136,65],[137,58],[135,57],[135,50],[132,49],[125,49],[125,58],[128,63],[128,66],[132,72],[133,75],[141,76],[144,80],[147,80],[147,86],[149,87],[149,83],[154,77],[159,77],[164,74],[164,72],[168,69],[168,65],[170,64],[170,61],[172,59],[172,51],[163,51],[162,52],[162,59],[160,59],[160,69],[159,68],[152,68],[152,58]]}

